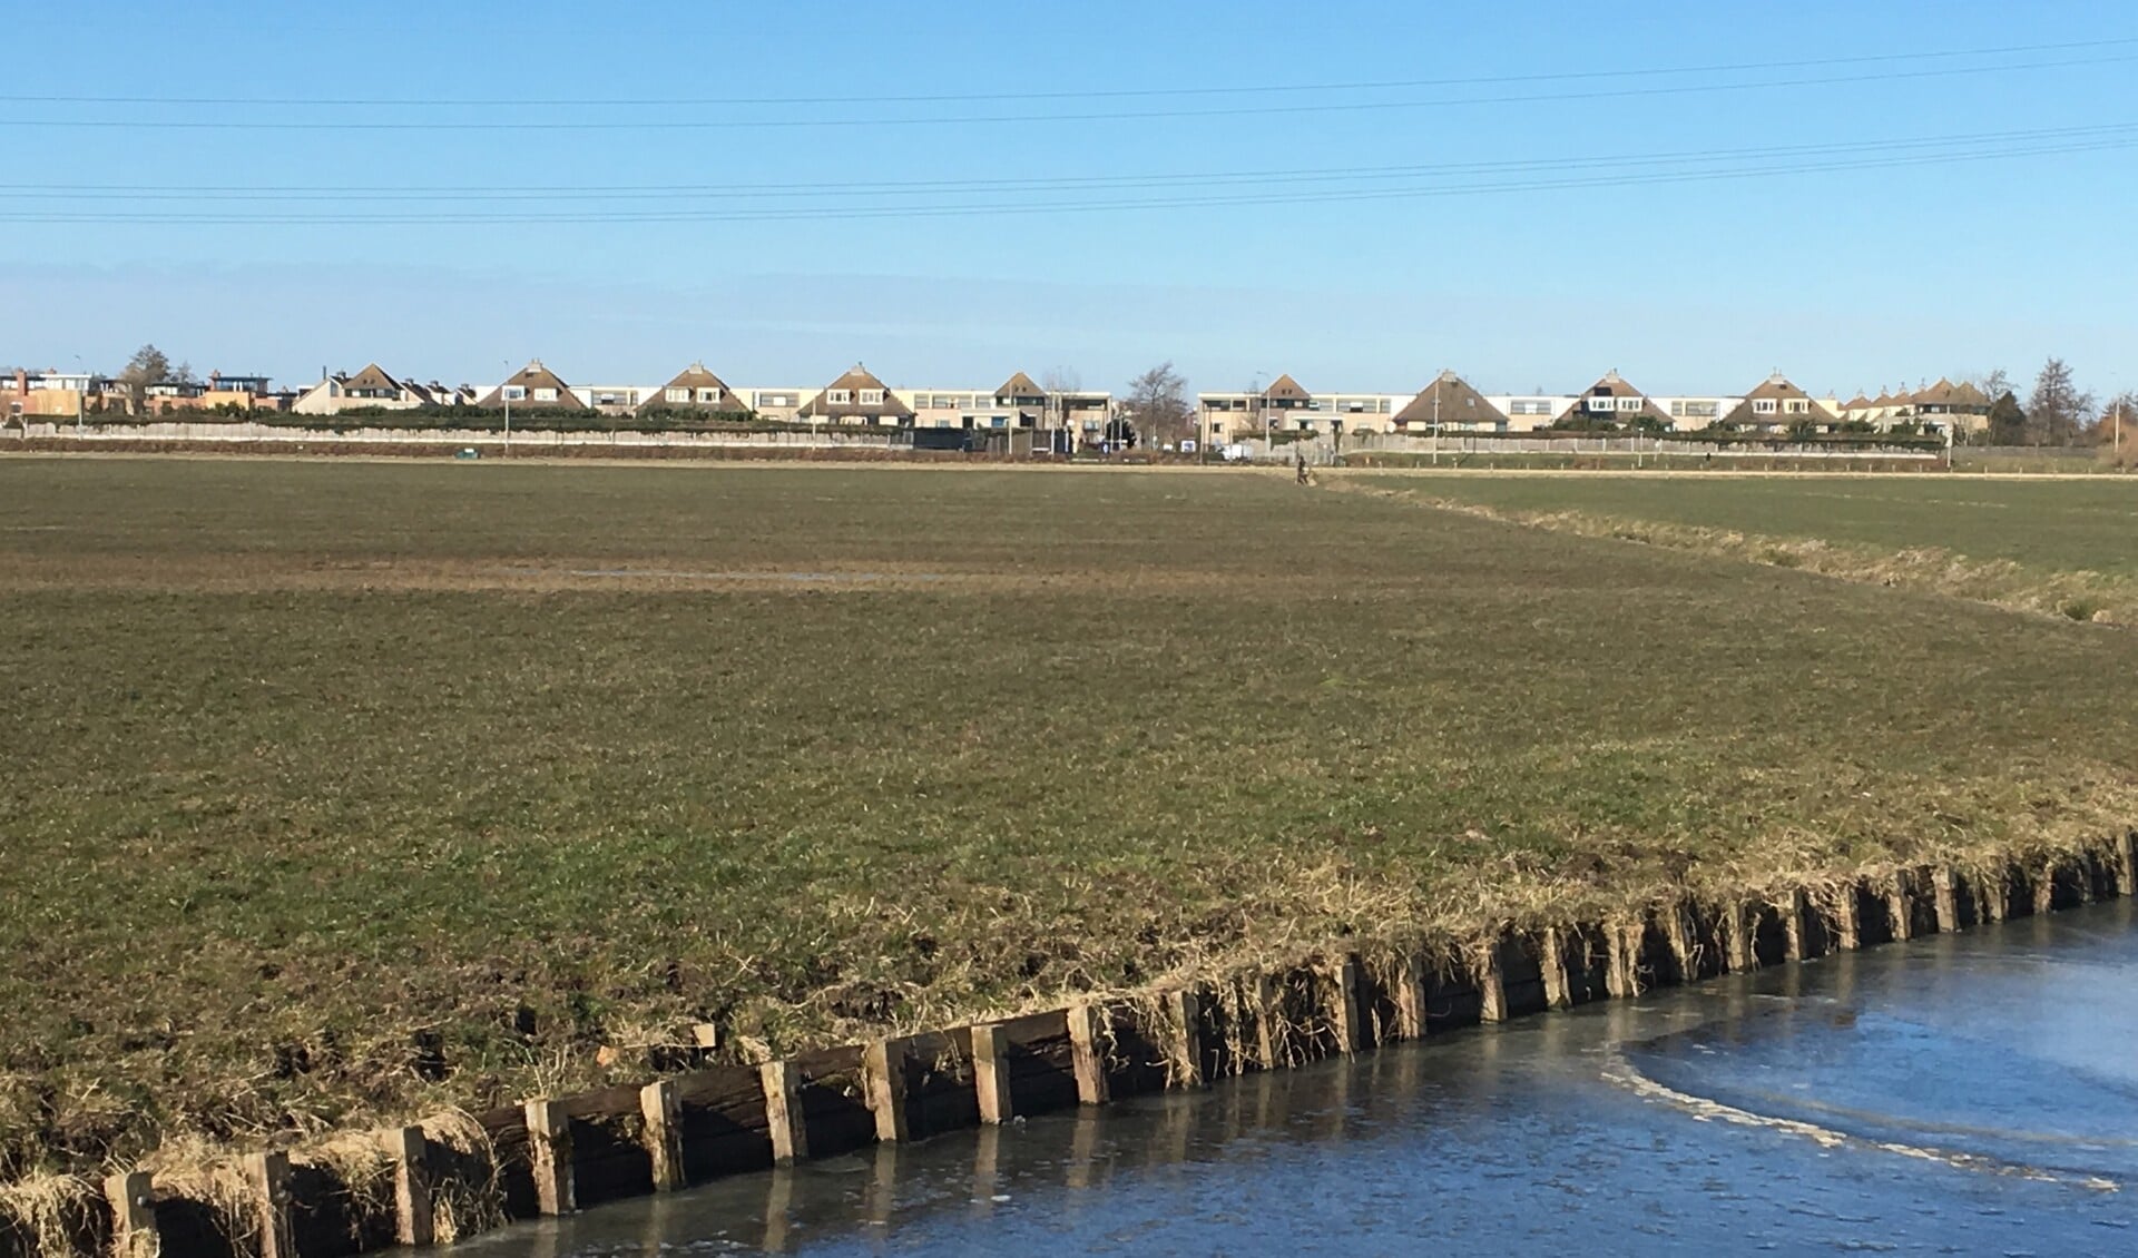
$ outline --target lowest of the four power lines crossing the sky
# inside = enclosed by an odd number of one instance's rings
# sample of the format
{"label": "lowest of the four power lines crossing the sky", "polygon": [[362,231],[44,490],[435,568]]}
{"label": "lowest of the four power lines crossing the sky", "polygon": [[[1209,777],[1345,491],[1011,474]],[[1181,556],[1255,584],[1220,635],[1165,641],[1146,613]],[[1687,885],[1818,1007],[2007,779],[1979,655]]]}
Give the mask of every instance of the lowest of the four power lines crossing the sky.
{"label": "lowest of the four power lines crossing the sky", "polygon": [[1362,188],[1362,190],[1319,190],[1319,192],[1257,192],[1257,194],[1212,194],[1212,196],[1152,196],[1137,201],[1063,201],[1063,203],[949,203],[949,205],[857,205],[857,207],[793,207],[793,209],[678,209],[678,211],[573,211],[573,214],[45,214],[4,211],[0,222],[60,222],[60,224],[154,224],[154,226],[487,226],[487,224],[661,224],[661,222],[827,222],[827,220],[879,220],[879,218],[981,218],[981,216],[1035,216],[1035,214],[1099,214],[1133,209],[1204,209],[1238,205],[1328,205],[1355,201],[1422,201],[1439,196],[1482,196],[1505,192],[1550,192],[1550,190],[1593,190],[1593,188],[1653,188],[1672,184],[1702,184],[1725,179],[1783,177],[1837,171],[1890,171],[1905,167],[1941,167],[1999,158],[2121,152],[2138,147],[2138,137],[2072,141],[2052,145],[2018,145],[1958,154],[1916,154],[1879,158],[1837,158],[1796,164],[1740,164],[1706,171],[1663,171],[1629,175],[1559,177],[1529,182],[1484,182],[1428,188]]}

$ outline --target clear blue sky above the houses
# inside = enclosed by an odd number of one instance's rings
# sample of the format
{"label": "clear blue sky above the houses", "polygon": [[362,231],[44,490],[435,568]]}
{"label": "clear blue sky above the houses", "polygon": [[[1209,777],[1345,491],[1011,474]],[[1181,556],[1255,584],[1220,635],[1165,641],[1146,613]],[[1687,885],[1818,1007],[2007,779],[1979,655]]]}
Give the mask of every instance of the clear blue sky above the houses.
{"label": "clear blue sky above the houses", "polygon": [[[0,81],[0,361],[111,369],[154,340],[282,380],[541,355],[573,382],[703,359],[815,384],[859,359],[894,384],[1118,389],[1172,359],[1202,389],[1323,391],[1618,367],[1655,393],[1781,367],[1847,395],[2061,355],[2138,384],[2138,132],[2040,152],[2138,124],[2121,4],[79,0],[19,6],[9,41],[53,56]],[[1926,56],[1963,49],[2005,51]],[[1385,81],[1443,83],[1358,88]],[[622,98],[656,105],[554,105]],[[676,105],[708,98],[744,105]],[[1033,117],[1060,113],[1082,117]],[[554,122],[579,126],[532,126]],[[1777,152],[2010,132],[1920,164]],[[1725,150],[1721,179],[1604,160]],[[1208,173],[1291,182],[1060,184]],[[998,184],[926,188],[971,179]],[[1450,184],[1499,190],[1413,194]],[[706,190],[646,192],[673,186]],[[410,188],[447,196],[376,199]],[[1219,203],[1093,207],[1197,196]],[[939,203],[1020,211],[872,216]],[[378,214],[466,222],[351,222]],[[582,220],[513,220],[558,214]],[[695,218],[626,218],[648,214]]]}

